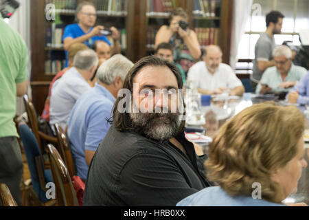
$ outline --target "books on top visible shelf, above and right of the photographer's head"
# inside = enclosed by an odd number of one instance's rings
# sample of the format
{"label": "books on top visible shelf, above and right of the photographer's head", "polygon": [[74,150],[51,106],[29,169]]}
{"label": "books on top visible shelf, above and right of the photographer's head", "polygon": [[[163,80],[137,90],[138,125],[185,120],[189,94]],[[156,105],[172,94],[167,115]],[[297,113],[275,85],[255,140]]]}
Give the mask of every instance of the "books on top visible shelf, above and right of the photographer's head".
{"label": "books on top visible shelf, above and right of the photographer's head", "polygon": [[193,14],[195,16],[216,17],[216,8],[220,7],[220,0],[194,0]]}

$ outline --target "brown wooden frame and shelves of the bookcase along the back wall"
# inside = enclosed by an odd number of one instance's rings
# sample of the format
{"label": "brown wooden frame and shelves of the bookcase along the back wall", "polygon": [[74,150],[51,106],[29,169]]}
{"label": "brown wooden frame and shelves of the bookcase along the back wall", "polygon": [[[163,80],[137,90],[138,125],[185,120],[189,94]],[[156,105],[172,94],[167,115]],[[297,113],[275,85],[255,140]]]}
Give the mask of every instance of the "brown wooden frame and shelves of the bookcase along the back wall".
{"label": "brown wooden frame and shelves of the bookcase along the back wall", "polygon": [[[47,54],[51,52],[61,53],[62,47],[49,47],[45,43],[45,27],[48,21],[45,19],[45,1],[30,0],[31,1],[31,44],[32,44],[32,98],[38,115],[41,114],[44,107],[45,98],[47,96],[49,83],[54,78],[54,73],[45,71],[45,61]],[[82,0],[77,0],[80,3]],[[89,0],[90,1],[90,0]],[[100,3],[95,0],[95,3]],[[148,1],[148,0],[147,0]],[[117,25],[122,25],[126,30],[126,49],[122,52],[135,63],[140,58],[146,56],[148,53],[153,53],[153,47],[147,47],[147,31],[149,21],[161,19],[168,23],[168,14],[153,14],[148,12],[146,0],[127,0],[126,12],[108,13],[98,10],[98,22],[104,25],[104,22],[112,24],[116,23],[115,27],[119,30]],[[233,0],[221,0],[220,17],[200,17],[193,14],[194,1],[187,0],[172,0],[176,2],[177,7],[185,9],[189,16],[190,28],[194,29],[194,22],[214,21],[220,23],[220,34],[218,35],[218,45],[223,51],[223,62],[229,63],[229,51],[231,45],[231,18],[233,11]],[[56,10],[58,14],[65,15],[71,18],[75,17],[75,10]],[[101,24],[98,23],[98,24]]]}

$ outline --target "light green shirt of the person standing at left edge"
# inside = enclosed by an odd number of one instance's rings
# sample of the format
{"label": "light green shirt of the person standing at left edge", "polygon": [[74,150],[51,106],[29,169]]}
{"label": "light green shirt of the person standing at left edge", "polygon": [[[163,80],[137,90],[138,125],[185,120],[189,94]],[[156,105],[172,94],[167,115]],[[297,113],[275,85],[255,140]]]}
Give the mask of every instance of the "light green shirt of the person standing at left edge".
{"label": "light green shirt of the person standing at left edge", "polygon": [[27,47],[19,33],[0,17],[0,137],[18,136],[16,83],[27,80]]}

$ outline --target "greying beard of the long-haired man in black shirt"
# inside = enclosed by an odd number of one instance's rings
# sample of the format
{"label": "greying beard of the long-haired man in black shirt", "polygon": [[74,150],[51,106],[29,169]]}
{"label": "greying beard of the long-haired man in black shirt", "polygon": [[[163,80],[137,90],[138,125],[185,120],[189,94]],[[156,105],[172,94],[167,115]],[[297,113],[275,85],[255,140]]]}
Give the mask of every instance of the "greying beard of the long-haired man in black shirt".
{"label": "greying beard of the long-haired man in black shirt", "polygon": [[[177,135],[181,120],[179,113],[130,113],[134,131],[159,142],[165,142]],[[166,112],[166,111],[164,111]],[[165,118],[161,118],[165,117]]]}

